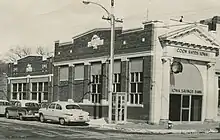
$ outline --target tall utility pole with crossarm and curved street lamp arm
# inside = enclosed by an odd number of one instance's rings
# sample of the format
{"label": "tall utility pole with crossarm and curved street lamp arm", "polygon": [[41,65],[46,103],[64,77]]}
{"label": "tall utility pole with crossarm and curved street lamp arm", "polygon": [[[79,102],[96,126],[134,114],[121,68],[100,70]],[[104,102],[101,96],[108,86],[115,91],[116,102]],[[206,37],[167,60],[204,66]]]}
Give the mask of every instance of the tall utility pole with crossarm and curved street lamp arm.
{"label": "tall utility pole with crossarm and curved street lamp arm", "polygon": [[112,92],[113,92],[113,71],[114,71],[114,44],[115,44],[115,22],[122,22],[121,20],[116,20],[113,14],[114,9],[114,0],[111,0],[111,13],[101,4],[92,2],[92,1],[83,1],[84,4],[94,4],[101,7],[107,14],[108,17],[104,18],[105,20],[111,21],[111,46],[110,46],[110,65],[109,65],[109,77],[108,77],[108,85],[109,85],[109,93],[108,93],[108,122],[112,121]]}

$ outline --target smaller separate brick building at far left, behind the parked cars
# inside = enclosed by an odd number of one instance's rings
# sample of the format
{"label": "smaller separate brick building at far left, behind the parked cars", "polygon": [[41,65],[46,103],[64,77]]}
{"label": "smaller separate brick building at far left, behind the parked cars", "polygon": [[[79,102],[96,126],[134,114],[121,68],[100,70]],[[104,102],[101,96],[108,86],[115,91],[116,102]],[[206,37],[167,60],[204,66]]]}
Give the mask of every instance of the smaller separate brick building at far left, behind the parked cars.
{"label": "smaller separate brick building at far left, behind the parked cars", "polygon": [[52,101],[53,58],[26,56],[8,64],[10,100]]}

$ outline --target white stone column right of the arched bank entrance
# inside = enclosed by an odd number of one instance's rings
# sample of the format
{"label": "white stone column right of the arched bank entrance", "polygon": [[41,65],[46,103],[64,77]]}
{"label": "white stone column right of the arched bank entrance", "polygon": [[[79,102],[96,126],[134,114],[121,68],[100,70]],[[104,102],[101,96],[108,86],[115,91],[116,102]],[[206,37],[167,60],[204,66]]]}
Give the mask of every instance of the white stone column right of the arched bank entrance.
{"label": "white stone column right of the arched bank entrance", "polygon": [[215,90],[215,63],[207,65],[207,93],[206,93],[206,122],[212,122],[217,117],[218,94]]}

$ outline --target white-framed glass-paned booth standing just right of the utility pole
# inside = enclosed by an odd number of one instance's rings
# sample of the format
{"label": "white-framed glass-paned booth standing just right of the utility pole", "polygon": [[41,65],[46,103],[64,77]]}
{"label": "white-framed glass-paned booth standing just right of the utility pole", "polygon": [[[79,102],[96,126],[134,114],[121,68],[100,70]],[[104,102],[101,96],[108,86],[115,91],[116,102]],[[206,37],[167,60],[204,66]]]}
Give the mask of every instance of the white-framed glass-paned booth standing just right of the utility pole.
{"label": "white-framed glass-paned booth standing just right of the utility pole", "polygon": [[116,92],[112,94],[112,121],[124,123],[127,120],[127,94]]}

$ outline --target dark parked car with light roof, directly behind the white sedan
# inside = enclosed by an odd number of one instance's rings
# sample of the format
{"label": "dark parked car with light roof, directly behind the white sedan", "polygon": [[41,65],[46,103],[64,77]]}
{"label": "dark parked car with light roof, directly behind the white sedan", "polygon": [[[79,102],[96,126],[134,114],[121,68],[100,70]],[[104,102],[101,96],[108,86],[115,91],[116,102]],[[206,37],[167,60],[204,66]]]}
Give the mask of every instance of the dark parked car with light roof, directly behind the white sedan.
{"label": "dark parked car with light roof, directly behind the white sedan", "polygon": [[39,109],[40,106],[37,101],[19,100],[14,102],[14,106],[6,107],[5,116],[7,119],[13,117],[20,120],[38,118]]}

